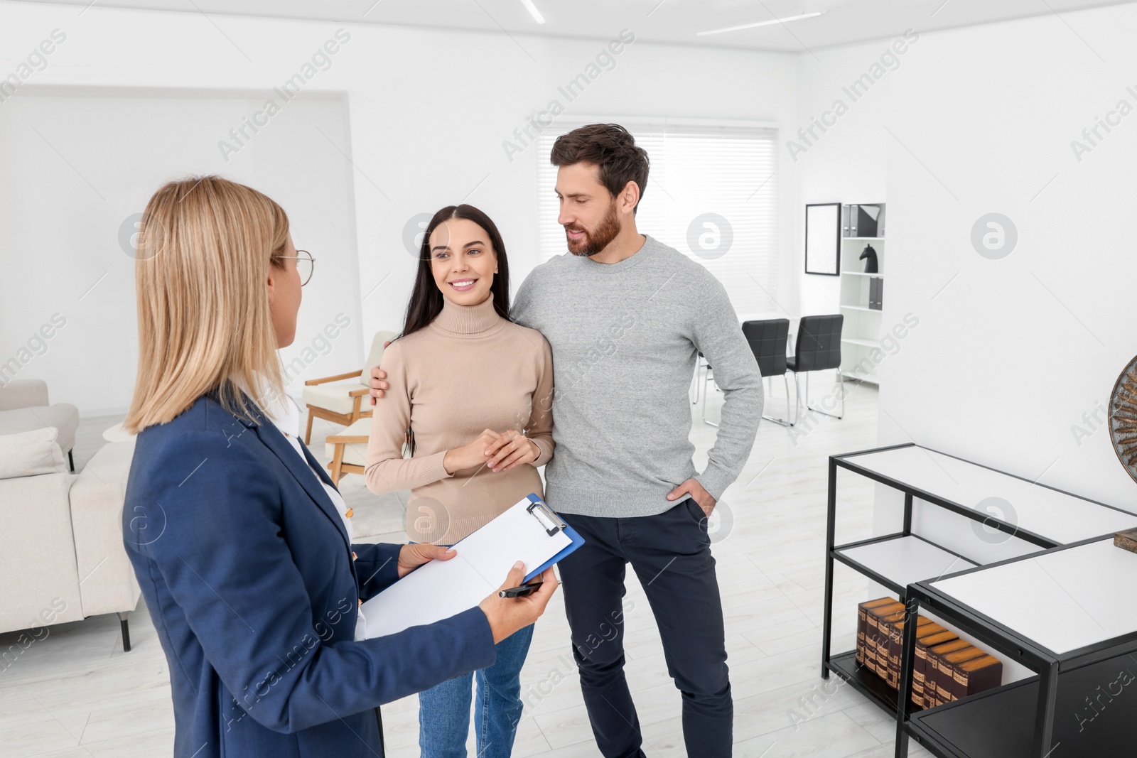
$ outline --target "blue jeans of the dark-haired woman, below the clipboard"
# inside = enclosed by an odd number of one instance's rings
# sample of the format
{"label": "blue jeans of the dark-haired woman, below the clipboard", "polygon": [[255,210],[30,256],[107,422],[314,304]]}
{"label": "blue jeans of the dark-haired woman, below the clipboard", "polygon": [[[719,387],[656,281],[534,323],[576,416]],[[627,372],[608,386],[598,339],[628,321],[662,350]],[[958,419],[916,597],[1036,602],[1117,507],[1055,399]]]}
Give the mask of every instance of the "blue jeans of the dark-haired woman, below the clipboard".
{"label": "blue jeans of the dark-haired woman, below the clipboard", "polygon": [[470,734],[472,680],[478,678],[474,732],[479,758],[508,758],[521,701],[521,667],[533,639],[533,625],[497,643],[497,659],[489,668],[456,676],[418,693],[418,747],[422,758],[465,758]]}

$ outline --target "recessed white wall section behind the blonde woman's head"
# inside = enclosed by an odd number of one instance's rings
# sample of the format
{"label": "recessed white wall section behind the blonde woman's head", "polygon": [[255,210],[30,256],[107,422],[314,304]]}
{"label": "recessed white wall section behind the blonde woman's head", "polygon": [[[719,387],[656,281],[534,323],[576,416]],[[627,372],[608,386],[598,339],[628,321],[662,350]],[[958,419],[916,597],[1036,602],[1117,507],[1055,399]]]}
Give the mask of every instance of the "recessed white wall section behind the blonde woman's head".
{"label": "recessed white wall section behind the blonde woman's head", "polygon": [[[324,375],[357,361],[358,292],[331,286],[357,278],[351,177],[330,148],[292,149],[316,128],[346,141],[343,98],[300,95],[225,164],[215,147],[227,130],[219,125],[240,124],[262,99],[172,94],[30,83],[0,106],[3,381],[45,378],[52,401],[85,415],[124,409],[138,367],[134,223],[167,180],[213,172],[281,202],[297,247],[318,259],[298,323],[302,339],[281,351],[284,359]],[[44,324],[50,339],[33,338]],[[329,324],[334,340],[322,333]]]}

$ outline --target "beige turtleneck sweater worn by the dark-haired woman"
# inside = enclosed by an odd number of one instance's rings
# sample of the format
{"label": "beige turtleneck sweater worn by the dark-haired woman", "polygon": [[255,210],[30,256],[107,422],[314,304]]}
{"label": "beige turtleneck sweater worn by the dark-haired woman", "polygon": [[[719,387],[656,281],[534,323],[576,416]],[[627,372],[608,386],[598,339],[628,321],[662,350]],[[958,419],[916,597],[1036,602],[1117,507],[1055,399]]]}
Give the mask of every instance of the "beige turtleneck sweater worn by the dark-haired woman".
{"label": "beige turtleneck sweater worn by the dark-haired woman", "polygon": [[[553,352],[541,333],[478,306],[443,301],[426,327],[396,340],[381,364],[390,389],[375,403],[367,444],[367,488],[410,490],[407,536],[453,544],[530,492],[542,495],[537,466],[553,456]],[[406,430],[415,453],[402,457]],[[524,432],[541,449],[532,465],[446,473],[447,450],[484,430]]]}

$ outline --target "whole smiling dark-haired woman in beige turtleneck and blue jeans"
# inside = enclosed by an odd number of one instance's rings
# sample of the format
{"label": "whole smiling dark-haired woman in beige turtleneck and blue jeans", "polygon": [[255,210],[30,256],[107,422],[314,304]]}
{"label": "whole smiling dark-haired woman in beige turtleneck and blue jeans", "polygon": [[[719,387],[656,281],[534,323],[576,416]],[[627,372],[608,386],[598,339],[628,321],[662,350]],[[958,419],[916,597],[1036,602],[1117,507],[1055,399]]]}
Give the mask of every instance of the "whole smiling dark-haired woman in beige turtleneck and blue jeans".
{"label": "whole smiling dark-haired woman in beige turtleneck and blue jeans", "polygon": [[[420,248],[402,336],[383,353],[367,486],[410,490],[407,535],[454,544],[530,492],[553,456],[553,352],[512,323],[509,268],[493,222],[472,206],[434,214]],[[410,456],[404,457],[409,442]],[[478,756],[507,758],[521,719],[532,625],[478,672]],[[423,758],[465,755],[473,674],[418,695]]]}

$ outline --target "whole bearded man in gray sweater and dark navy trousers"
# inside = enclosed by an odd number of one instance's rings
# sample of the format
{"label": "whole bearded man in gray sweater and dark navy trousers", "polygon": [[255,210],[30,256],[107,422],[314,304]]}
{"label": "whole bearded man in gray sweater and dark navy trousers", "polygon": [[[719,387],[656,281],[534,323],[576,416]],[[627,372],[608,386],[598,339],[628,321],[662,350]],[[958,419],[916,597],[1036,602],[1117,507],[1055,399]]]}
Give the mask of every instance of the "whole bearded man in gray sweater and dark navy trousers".
{"label": "whole bearded man in gray sweater and dark navy trousers", "polygon": [[[645,755],[623,672],[631,564],[682,692],[687,753],[730,756],[733,703],[706,523],[750,455],[762,376],[722,284],[637,230],[649,161],[632,135],[582,126],[557,139],[550,159],[568,253],[533,269],[512,316],[553,348],[553,397],[533,402],[553,403],[546,499],[584,538],[559,567],[592,733],[607,758]],[[725,397],[703,472],[689,441],[699,352]],[[382,378],[375,369],[376,397]],[[489,467],[507,455],[490,451]]]}

